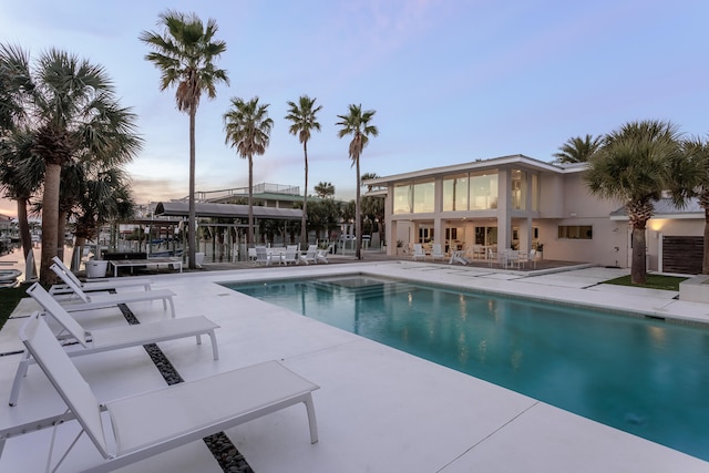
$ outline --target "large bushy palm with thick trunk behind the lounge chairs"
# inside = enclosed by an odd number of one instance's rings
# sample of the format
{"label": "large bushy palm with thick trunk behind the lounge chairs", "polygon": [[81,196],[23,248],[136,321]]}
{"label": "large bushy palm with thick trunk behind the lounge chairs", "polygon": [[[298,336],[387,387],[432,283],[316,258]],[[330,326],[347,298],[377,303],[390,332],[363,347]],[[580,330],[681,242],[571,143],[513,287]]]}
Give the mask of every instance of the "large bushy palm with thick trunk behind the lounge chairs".
{"label": "large bushy palm with thick trunk behind the lounge chairs", "polygon": [[135,115],[119,106],[102,66],[55,49],[35,64],[28,71],[32,90],[24,107],[34,133],[32,154],[44,162],[40,281],[51,284],[62,166],[76,160],[124,163],[140,151],[142,140],[135,134]]}

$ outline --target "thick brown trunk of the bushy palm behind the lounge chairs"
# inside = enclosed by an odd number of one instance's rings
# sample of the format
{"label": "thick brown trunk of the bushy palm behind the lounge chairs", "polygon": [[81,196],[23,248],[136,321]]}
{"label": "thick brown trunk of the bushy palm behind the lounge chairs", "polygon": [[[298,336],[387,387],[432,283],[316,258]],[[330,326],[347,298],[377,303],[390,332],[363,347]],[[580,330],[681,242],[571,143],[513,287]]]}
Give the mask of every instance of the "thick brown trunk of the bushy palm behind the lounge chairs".
{"label": "thick brown trunk of the bushy palm behind the lounge chairs", "polygon": [[62,166],[45,163],[44,195],[42,196],[42,257],[40,264],[40,282],[52,285],[56,276],[50,269],[52,258],[56,256],[56,225],[59,219],[59,184]]}

